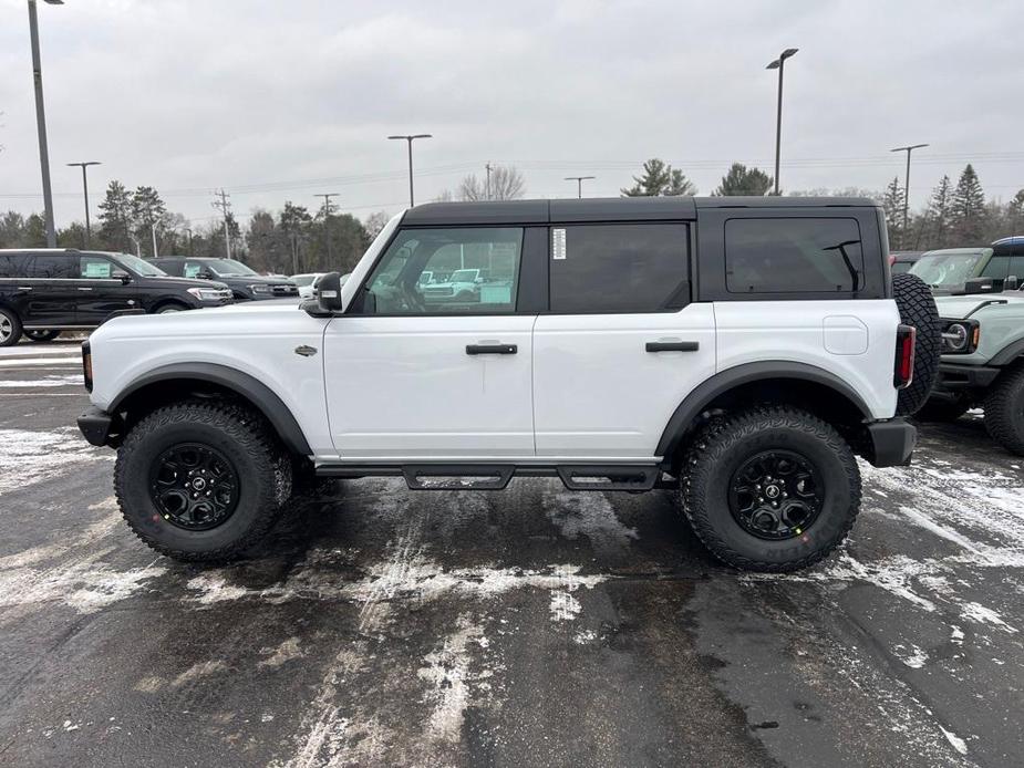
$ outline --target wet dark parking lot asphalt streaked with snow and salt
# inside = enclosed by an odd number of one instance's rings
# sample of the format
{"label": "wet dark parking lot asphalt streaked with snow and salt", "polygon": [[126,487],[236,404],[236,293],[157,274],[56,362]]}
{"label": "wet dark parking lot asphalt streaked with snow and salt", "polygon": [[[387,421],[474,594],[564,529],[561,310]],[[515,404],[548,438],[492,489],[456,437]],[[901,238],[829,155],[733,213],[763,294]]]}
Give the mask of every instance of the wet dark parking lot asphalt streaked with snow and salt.
{"label": "wet dark parking lot asphalt streaked with snow and salt", "polygon": [[744,574],[672,495],[324,482],[244,562],[158,557],[74,344],[0,351],[0,764],[1009,766],[1024,470],[976,414],[861,465],[827,562]]}

